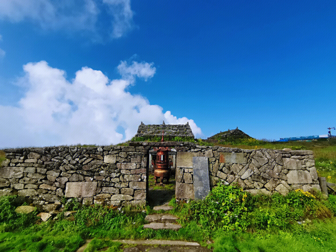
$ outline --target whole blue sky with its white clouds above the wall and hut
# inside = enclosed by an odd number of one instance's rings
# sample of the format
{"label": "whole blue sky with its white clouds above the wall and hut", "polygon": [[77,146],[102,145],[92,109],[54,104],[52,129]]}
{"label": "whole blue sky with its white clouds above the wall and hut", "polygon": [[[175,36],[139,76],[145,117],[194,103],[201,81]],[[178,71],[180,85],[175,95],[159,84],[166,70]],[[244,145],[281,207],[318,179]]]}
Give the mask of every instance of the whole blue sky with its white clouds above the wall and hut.
{"label": "whole blue sky with its white clouds above the wall and hut", "polygon": [[117,143],[162,120],[326,134],[335,16],[334,1],[2,1],[0,148]]}

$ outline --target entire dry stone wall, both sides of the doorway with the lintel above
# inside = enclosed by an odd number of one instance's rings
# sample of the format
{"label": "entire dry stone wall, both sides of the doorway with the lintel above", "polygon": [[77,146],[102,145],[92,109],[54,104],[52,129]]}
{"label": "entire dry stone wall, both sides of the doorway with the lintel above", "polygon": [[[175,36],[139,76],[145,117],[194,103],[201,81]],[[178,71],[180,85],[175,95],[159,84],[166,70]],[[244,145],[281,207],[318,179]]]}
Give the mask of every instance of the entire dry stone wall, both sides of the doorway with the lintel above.
{"label": "entire dry stone wall, both sides of the doorway with the lintel above", "polygon": [[[242,150],[168,141],[131,142],[130,146],[4,149],[0,195],[26,197],[45,211],[57,209],[62,198],[75,198],[83,204],[145,204],[149,150],[154,146],[170,146],[177,151],[177,200],[194,199],[195,193],[199,198],[205,197],[198,187],[208,184],[207,180],[210,188],[222,181],[238,184],[253,194],[321,190],[312,151]],[[207,160],[201,162],[197,172],[193,157]]]}

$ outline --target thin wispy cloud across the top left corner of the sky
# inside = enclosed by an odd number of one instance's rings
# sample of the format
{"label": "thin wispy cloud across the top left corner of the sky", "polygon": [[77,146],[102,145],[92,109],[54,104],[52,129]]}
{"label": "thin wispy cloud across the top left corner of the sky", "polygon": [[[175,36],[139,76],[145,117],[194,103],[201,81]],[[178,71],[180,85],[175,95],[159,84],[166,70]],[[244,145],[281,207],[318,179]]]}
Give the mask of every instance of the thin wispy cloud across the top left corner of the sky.
{"label": "thin wispy cloud across the top left corner of the sky", "polygon": [[[101,13],[108,13],[111,27],[99,30]],[[106,32],[112,38],[119,38],[134,27],[129,0],[6,0],[0,1],[0,19],[12,23],[30,21],[43,29],[89,31],[98,37]]]}

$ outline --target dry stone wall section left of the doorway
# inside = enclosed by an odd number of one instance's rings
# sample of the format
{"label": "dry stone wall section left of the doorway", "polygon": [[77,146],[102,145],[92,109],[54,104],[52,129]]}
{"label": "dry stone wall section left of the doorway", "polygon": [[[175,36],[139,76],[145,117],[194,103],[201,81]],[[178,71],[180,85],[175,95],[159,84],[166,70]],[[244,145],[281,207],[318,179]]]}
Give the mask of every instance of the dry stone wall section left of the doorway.
{"label": "dry stone wall section left of the doorway", "polygon": [[50,210],[61,198],[83,204],[145,204],[149,146],[5,149],[0,194]]}

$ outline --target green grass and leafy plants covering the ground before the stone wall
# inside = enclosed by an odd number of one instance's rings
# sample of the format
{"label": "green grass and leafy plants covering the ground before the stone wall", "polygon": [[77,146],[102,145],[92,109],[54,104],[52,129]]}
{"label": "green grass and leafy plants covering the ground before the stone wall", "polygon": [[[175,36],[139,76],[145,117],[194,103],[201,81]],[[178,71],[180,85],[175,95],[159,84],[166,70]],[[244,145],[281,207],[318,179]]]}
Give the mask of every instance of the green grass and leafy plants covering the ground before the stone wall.
{"label": "green grass and leafy plants covering the ground before the stone wall", "polygon": [[[246,196],[245,196],[246,195]],[[81,206],[68,202],[47,222],[31,214],[17,214],[16,196],[0,197],[0,251],[76,251],[95,238],[86,251],[121,251],[115,239],[196,241],[214,251],[334,251],[336,197],[292,192],[284,197],[252,196],[240,187],[218,185],[203,201],[177,204],[180,230],[144,229],[150,207]],[[243,200],[244,199],[244,200]],[[293,211],[294,210],[294,211]],[[214,241],[208,244],[207,241]]]}

